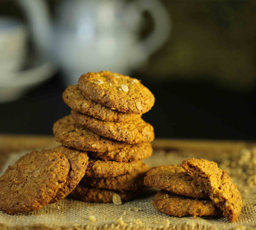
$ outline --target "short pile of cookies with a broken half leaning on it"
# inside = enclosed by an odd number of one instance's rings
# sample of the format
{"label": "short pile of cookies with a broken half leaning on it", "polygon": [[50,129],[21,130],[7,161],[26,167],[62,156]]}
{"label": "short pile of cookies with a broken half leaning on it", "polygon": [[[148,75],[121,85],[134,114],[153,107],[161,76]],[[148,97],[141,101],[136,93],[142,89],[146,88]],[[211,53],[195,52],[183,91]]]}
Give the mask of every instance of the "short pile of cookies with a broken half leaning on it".
{"label": "short pile of cookies with a broken half leaning on it", "polygon": [[223,213],[234,222],[241,213],[241,194],[213,161],[193,158],[181,165],[153,167],[147,172],[144,185],[161,189],[153,206],[168,215],[195,218]]}

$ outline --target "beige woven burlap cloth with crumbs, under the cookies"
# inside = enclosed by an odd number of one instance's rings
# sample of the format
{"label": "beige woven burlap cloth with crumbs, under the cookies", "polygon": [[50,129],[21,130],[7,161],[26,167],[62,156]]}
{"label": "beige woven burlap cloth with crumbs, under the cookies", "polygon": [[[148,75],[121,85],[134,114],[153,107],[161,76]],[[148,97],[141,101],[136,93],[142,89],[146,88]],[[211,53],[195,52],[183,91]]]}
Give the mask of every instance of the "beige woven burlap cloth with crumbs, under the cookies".
{"label": "beige woven burlap cloth with crumbs, under the cookies", "polygon": [[[4,167],[25,153],[12,153]],[[256,150],[208,154],[158,148],[145,163],[150,166],[177,164],[193,156],[216,161],[238,186],[243,206],[235,223],[224,217],[170,217],[154,209],[151,190],[144,197],[122,205],[64,199],[33,213],[7,215],[0,212],[0,229],[256,229]]]}

